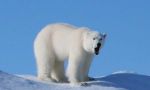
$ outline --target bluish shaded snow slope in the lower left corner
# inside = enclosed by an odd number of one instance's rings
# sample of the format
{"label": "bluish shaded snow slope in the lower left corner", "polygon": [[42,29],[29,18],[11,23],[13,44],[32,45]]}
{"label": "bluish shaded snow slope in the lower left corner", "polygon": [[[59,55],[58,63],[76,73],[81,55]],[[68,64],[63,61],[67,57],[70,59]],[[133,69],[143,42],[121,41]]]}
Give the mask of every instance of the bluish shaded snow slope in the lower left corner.
{"label": "bluish shaded snow slope in the lower left corner", "polygon": [[45,84],[0,71],[0,90],[48,90]]}

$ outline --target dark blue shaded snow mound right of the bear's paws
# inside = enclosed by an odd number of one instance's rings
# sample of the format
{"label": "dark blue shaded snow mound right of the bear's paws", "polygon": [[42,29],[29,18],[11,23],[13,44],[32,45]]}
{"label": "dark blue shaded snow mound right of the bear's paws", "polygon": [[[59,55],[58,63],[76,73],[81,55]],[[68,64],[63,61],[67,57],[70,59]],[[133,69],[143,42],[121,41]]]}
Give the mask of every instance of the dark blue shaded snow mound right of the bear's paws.
{"label": "dark blue shaded snow mound right of the bear's paws", "polygon": [[95,81],[89,82],[89,86],[91,85],[124,88],[128,90],[149,90],[150,76],[134,73],[118,73],[102,78],[95,78]]}

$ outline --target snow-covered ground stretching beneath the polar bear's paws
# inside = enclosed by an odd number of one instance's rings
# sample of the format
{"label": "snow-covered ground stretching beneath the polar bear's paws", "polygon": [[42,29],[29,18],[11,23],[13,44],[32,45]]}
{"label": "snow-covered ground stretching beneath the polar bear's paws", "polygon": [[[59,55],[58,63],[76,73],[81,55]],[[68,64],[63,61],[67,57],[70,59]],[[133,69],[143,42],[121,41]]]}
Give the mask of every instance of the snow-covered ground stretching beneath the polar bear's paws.
{"label": "snow-covered ground stretching beneath the polar bear's paws", "polygon": [[11,75],[0,71],[0,90],[150,90],[150,76],[121,72],[95,78],[87,86],[44,83],[32,75]]}

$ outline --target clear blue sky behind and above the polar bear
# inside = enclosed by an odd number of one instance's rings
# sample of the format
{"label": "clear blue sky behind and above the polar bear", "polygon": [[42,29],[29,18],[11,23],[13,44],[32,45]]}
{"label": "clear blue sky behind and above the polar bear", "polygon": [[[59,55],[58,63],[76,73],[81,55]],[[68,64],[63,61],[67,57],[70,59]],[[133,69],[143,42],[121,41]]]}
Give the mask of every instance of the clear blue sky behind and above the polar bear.
{"label": "clear blue sky behind and above the polar bear", "polygon": [[35,75],[33,41],[56,22],[108,34],[91,76],[120,70],[150,75],[149,0],[1,0],[0,70]]}

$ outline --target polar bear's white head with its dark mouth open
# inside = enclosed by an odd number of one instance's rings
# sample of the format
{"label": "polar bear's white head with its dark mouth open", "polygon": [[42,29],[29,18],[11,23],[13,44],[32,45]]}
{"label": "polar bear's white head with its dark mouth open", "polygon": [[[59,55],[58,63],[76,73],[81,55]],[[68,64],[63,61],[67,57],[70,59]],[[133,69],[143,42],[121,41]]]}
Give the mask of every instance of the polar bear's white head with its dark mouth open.
{"label": "polar bear's white head with its dark mouth open", "polygon": [[85,51],[92,54],[99,54],[102,48],[106,34],[102,34],[96,31],[87,31],[83,34],[83,48]]}

